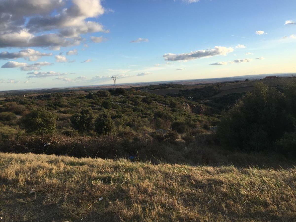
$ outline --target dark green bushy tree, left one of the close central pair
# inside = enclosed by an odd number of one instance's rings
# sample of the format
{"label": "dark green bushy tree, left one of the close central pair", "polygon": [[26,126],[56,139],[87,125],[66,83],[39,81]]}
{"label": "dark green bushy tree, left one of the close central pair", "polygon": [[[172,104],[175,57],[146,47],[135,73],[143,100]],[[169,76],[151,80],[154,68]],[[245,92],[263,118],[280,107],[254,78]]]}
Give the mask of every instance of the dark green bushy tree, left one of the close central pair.
{"label": "dark green bushy tree, left one of the close central pair", "polygon": [[72,116],[71,122],[79,133],[90,131],[94,123],[94,113],[90,107],[82,108]]}

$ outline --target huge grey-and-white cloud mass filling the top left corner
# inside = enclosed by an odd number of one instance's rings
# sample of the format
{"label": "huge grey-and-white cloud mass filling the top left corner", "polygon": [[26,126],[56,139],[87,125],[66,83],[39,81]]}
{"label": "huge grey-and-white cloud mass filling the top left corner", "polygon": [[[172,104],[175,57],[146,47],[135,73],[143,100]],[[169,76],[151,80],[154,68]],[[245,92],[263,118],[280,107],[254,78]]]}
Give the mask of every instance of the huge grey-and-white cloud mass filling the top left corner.
{"label": "huge grey-and-white cloud mass filling the top left corner", "polygon": [[1,0],[0,4],[0,47],[58,49],[80,44],[81,34],[108,32],[88,20],[104,14],[100,0]]}

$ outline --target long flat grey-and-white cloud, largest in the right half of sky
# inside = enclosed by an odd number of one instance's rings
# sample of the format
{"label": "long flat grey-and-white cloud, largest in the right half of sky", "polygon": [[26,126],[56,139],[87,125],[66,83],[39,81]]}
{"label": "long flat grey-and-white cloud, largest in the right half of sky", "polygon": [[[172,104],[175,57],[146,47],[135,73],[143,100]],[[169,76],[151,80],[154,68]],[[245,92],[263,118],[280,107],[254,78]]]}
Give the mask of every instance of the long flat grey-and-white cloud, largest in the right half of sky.
{"label": "long flat grey-and-white cloud, largest in the right half of sky", "polygon": [[165,60],[168,60],[168,61],[179,61],[179,60],[208,58],[208,57],[213,57],[218,55],[226,56],[227,53],[229,52],[233,52],[233,48],[215,46],[214,49],[198,50],[198,51],[189,52],[189,53],[182,53],[182,54],[166,53],[163,55],[163,57],[165,58]]}

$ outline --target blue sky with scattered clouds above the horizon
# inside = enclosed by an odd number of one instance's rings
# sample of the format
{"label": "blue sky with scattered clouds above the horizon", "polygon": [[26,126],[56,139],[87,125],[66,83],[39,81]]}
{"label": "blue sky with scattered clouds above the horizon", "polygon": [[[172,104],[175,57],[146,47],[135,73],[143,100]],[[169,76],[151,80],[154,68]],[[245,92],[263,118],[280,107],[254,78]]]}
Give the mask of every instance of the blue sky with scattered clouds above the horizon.
{"label": "blue sky with scattered clouds above the horizon", "polygon": [[0,91],[296,72],[296,1],[0,0]]}

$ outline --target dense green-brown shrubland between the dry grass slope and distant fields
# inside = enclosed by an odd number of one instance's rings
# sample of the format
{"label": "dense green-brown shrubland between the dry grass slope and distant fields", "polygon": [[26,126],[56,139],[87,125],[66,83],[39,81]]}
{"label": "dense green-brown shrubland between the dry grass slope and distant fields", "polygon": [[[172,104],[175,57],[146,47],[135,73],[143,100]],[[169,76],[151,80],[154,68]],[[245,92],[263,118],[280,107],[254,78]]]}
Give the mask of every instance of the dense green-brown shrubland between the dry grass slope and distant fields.
{"label": "dense green-brown shrubland between the dry grass slope and distant fields", "polygon": [[234,150],[294,153],[295,85],[211,98],[219,92],[214,85],[175,97],[137,88],[4,95],[0,151],[213,165],[239,165]]}

